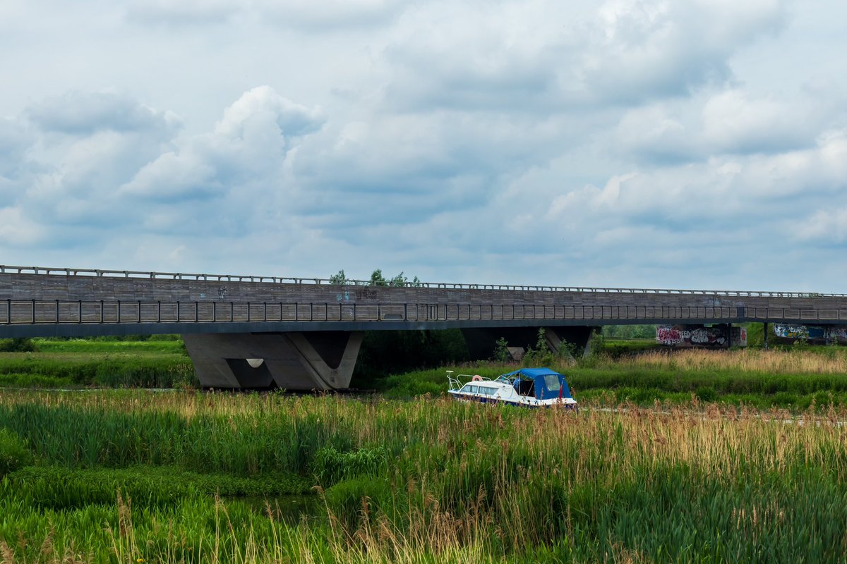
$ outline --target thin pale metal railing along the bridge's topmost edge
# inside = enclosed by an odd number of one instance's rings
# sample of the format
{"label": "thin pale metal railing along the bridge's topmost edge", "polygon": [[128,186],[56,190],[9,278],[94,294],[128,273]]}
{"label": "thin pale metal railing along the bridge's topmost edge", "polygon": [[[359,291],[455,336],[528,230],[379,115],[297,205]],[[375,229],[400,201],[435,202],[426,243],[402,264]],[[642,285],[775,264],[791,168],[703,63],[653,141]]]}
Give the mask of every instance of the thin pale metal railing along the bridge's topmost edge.
{"label": "thin pale metal railing along the bridge's topmost edge", "polygon": [[[307,284],[329,285],[337,287],[374,286],[370,280],[348,280],[342,282],[329,278],[308,277],[262,277],[237,276],[230,274],[195,274],[188,272],[156,272],[156,271],[112,271],[90,268],[53,268],[45,266],[7,266],[0,265],[0,273],[40,274],[64,277],[119,277],[147,278],[163,280],[202,280],[212,282],[265,282],[276,284]],[[418,282],[406,281],[388,283],[392,287],[425,287],[463,290],[523,290],[531,292],[569,292],[569,293],[662,293],[662,294],[703,294],[710,296],[740,296],[766,298],[845,298],[847,293],[817,293],[817,292],[773,292],[759,290],[687,290],[673,288],[644,288],[644,287],[588,287],[588,286],[528,286],[507,284],[465,284],[454,282]]]}

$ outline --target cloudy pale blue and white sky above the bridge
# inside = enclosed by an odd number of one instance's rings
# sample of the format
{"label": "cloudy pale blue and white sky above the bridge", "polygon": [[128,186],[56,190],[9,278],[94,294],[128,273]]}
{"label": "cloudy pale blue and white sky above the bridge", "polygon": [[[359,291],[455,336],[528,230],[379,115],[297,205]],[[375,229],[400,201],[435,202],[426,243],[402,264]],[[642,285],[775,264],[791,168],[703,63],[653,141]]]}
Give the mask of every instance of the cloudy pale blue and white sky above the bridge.
{"label": "cloudy pale blue and white sky above the bridge", "polygon": [[845,16],[0,0],[0,265],[847,293]]}

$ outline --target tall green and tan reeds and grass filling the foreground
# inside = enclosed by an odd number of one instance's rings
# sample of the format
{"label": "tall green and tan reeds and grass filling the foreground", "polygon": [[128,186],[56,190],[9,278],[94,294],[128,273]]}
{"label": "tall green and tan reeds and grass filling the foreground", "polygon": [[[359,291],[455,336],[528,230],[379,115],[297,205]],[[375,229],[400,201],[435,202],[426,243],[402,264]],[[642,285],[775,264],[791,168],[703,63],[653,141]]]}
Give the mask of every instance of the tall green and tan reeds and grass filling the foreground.
{"label": "tall green and tan reeds and grass filling the foreground", "polygon": [[844,419],[0,392],[0,562],[838,562]]}

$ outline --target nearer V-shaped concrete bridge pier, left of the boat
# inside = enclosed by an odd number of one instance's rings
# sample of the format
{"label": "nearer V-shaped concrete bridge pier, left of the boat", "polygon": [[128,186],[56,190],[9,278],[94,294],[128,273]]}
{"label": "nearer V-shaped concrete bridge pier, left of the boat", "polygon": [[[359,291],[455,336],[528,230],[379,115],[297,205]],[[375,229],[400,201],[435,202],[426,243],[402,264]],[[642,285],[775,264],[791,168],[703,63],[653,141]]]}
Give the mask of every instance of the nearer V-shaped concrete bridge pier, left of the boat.
{"label": "nearer V-shaped concrete bridge pier, left of the boat", "polygon": [[350,386],[362,331],[185,334],[204,388],[339,390]]}

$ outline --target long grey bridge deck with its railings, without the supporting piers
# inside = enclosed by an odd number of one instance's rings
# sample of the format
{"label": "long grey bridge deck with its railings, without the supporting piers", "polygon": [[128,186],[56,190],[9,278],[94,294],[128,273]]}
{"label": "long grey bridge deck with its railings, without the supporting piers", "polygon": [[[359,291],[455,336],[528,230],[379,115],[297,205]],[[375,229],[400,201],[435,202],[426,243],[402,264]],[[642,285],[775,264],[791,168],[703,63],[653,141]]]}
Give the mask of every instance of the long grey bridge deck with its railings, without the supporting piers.
{"label": "long grey bridge deck with its railings, without the supporting piers", "polygon": [[847,324],[847,296],[0,266],[0,337],[743,321]]}

